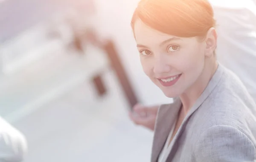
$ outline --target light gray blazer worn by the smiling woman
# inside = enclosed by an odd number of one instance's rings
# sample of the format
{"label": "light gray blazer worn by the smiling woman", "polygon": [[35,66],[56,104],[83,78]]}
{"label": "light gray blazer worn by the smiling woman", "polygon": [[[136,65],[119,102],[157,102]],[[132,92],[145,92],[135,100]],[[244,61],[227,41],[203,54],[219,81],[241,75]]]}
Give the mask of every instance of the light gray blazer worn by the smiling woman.
{"label": "light gray blazer worn by the smiling woman", "polygon": [[[157,162],[181,102],[161,105],[151,162]],[[256,162],[256,104],[231,71],[218,66],[169,147],[165,162]]]}

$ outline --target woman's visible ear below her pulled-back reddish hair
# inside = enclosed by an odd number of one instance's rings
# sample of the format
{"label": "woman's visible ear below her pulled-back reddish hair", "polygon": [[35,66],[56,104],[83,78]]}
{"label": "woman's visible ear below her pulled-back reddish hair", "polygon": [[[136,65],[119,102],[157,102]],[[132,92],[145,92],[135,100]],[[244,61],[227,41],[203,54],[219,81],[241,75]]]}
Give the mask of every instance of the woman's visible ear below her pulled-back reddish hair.
{"label": "woman's visible ear below her pulled-back reddish hair", "polygon": [[216,49],[216,46],[217,46],[217,32],[215,28],[210,28],[208,30],[205,38],[205,43],[206,43],[205,55],[207,57],[212,57],[214,54],[214,50]]}

